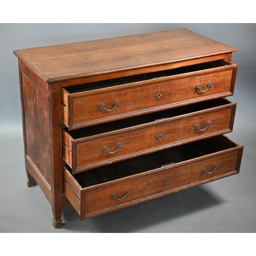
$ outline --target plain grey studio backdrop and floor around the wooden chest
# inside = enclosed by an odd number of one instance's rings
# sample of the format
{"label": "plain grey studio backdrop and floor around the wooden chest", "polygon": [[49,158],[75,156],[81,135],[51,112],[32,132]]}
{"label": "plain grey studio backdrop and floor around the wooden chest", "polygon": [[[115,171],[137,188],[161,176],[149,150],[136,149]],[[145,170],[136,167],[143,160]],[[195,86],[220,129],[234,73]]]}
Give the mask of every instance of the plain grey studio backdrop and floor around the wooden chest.
{"label": "plain grey studio backdrop and floor around the wooden chest", "polygon": [[[13,51],[187,28],[236,47],[233,132],[244,145],[239,175],[190,188],[93,219],[79,221],[72,206],[60,229],[39,186],[28,188],[24,165],[17,58]],[[1,232],[255,232],[256,26],[255,24],[0,24],[0,231]]]}

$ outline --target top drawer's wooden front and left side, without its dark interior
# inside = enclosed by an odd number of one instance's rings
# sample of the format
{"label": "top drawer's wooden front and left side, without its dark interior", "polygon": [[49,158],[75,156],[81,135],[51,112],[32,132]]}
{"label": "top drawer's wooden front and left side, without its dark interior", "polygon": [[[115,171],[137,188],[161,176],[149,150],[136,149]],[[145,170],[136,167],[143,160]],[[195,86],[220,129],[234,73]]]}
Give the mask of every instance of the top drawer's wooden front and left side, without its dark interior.
{"label": "top drawer's wooden front and left side, without its dark interior", "polygon": [[[69,94],[62,89],[62,119],[69,130],[233,93],[236,65]],[[207,84],[211,83],[207,89]],[[201,91],[197,90],[200,86]],[[105,108],[105,109],[104,109]]]}

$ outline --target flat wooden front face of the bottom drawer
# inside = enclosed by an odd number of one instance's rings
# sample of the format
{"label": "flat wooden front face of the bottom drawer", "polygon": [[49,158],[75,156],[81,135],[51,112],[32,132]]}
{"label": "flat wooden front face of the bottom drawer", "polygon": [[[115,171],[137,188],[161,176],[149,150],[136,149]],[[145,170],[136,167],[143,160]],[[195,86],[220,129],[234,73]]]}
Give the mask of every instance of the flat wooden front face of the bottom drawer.
{"label": "flat wooden front face of the bottom drawer", "polygon": [[[87,219],[110,209],[126,207],[237,174],[238,161],[239,150],[236,149],[202,160],[195,159],[173,167],[162,167],[149,175],[127,178],[111,185],[99,186],[97,189],[82,189],[80,217]],[[204,170],[208,174],[203,173]],[[127,190],[129,194],[126,193]]]}

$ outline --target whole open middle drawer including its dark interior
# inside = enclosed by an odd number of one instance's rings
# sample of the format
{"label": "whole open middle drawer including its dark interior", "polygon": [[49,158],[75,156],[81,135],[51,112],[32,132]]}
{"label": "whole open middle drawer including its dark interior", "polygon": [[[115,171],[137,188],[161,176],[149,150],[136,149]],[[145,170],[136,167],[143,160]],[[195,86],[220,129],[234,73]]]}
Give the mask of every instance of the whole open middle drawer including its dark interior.
{"label": "whole open middle drawer including its dark interior", "polygon": [[236,103],[220,98],[74,131],[63,129],[63,159],[79,173],[229,133],[235,112]]}

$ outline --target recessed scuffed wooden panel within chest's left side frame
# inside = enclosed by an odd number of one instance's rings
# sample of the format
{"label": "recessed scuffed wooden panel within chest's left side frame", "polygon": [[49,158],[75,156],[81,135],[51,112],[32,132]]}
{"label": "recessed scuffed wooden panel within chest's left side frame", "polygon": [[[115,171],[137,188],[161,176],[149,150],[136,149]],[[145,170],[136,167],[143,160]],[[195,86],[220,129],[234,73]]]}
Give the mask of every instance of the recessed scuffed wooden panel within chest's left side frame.
{"label": "recessed scuffed wooden panel within chest's left side frame", "polygon": [[[23,75],[27,157],[51,187],[51,139],[48,97]],[[40,108],[38,108],[40,105]]]}

